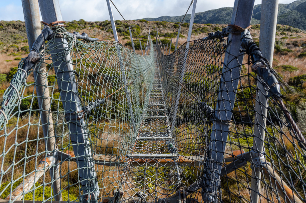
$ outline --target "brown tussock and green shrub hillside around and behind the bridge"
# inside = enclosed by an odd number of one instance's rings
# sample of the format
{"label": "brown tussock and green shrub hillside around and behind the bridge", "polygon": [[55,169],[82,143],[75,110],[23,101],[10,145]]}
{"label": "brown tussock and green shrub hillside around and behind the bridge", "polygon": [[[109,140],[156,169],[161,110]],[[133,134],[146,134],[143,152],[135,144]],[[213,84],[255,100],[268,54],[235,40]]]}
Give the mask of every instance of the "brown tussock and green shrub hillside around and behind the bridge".
{"label": "brown tussock and green shrub hillside around and behind the bridge", "polygon": [[[125,46],[128,46],[131,48],[131,40],[129,38],[129,29],[128,26],[123,22],[123,21],[116,21],[116,26],[117,26],[117,32],[119,35],[119,41],[121,44],[124,44]],[[159,36],[161,37],[161,41],[164,44],[169,44],[170,45],[170,40],[172,39],[172,46],[171,46],[171,51],[174,51],[174,40],[176,39],[177,36],[177,28],[178,24],[177,22],[166,22],[166,21],[146,21],[146,20],[140,20],[140,21],[129,21],[129,23],[132,25],[132,30],[133,30],[133,37],[134,37],[134,42],[135,42],[135,48],[137,49],[136,52],[140,53],[140,46],[144,49],[144,45],[147,42],[147,32],[148,32],[148,26],[151,25],[157,25],[158,30],[159,30]],[[112,29],[110,25],[110,21],[96,21],[96,22],[86,22],[84,20],[79,20],[79,21],[71,21],[67,22],[67,30],[69,32],[73,31],[78,31],[80,33],[86,32],[88,33],[89,36],[94,36],[99,39],[103,40],[113,40],[113,34],[112,34]],[[204,36],[207,36],[208,33],[210,32],[215,32],[218,30],[221,30],[224,28],[226,25],[213,25],[213,24],[195,24],[193,26],[193,31],[192,31],[192,38],[191,40],[202,38]],[[186,41],[186,36],[188,32],[188,23],[183,23],[182,28],[181,28],[181,33],[180,33],[180,38],[179,38],[179,45],[182,45]],[[252,30],[252,36],[254,41],[259,44],[259,25],[254,26],[254,29]],[[151,37],[152,39],[156,40],[156,31],[153,30],[151,31]],[[139,42],[139,39],[141,41],[141,45]],[[299,124],[301,130],[303,133],[306,132],[306,127],[305,127],[305,121],[306,121],[306,113],[300,113],[300,112],[305,112],[306,111],[306,67],[305,67],[305,62],[306,62],[306,34],[299,30],[299,29],[294,29],[289,26],[282,26],[278,25],[277,27],[277,32],[276,32],[276,40],[275,40],[275,54],[274,54],[274,59],[273,59],[273,64],[272,67],[278,72],[278,74],[282,77],[282,79],[288,83],[295,91],[297,94],[291,94],[287,92],[283,92],[283,94],[286,96],[285,102],[288,106],[290,106],[290,110],[293,112],[293,117]],[[9,86],[9,81],[13,78],[13,75],[17,71],[17,65],[18,62],[21,60],[21,58],[27,56],[29,52],[29,47],[27,44],[27,39],[26,39],[26,33],[24,29],[24,23],[21,21],[0,21],[0,96],[3,95],[4,90]],[[86,64],[83,64],[86,66]],[[212,72],[218,72],[221,70],[221,67],[210,67],[212,69]],[[248,71],[245,67],[242,67],[243,70],[242,72],[244,74],[248,74]],[[104,75],[107,75],[107,73],[102,73]],[[253,73],[249,73],[252,75]],[[114,77],[116,78],[117,75],[110,75],[108,74],[110,78]],[[49,85],[57,85],[56,80],[54,77],[54,71],[50,71],[50,74],[48,75],[48,82]],[[254,76],[254,74],[253,74]],[[190,86],[197,86],[200,84],[197,83],[192,83],[192,74],[188,73],[186,74],[186,77],[184,78],[187,82],[191,82]],[[186,82],[185,81],[185,82]],[[254,79],[255,81],[255,79]],[[253,81],[253,82],[254,82]],[[30,77],[30,79],[27,80],[27,83],[31,85],[34,82],[34,79]],[[201,81],[205,82],[205,81]],[[31,89],[32,88],[32,89]],[[28,90],[24,93],[26,96],[30,96],[33,92],[33,85],[28,87]],[[255,89],[252,89],[250,87],[245,87],[241,88],[237,92],[237,98],[242,99],[244,97],[255,97]],[[55,90],[53,93],[53,102],[51,104],[51,110],[52,111],[58,111],[58,109],[62,109],[62,104],[59,102],[59,91]],[[86,95],[82,95],[86,96]],[[2,99],[1,99],[2,101]],[[22,109],[29,109],[31,106],[35,105],[35,109],[38,108],[37,102],[30,102],[31,100],[23,100],[23,103],[21,104]],[[240,106],[244,106],[245,109],[242,109],[242,113],[235,118],[237,121],[239,119],[247,119],[249,117],[252,117],[254,115],[250,115],[249,112],[246,110],[251,106],[251,103],[240,103]],[[237,108],[237,106],[235,106]],[[237,110],[237,109],[236,109]],[[33,113],[32,117],[29,115],[23,115],[23,120],[21,121],[20,125],[26,125],[28,123],[28,120],[31,120],[32,123],[38,123],[39,122],[39,115],[38,113]],[[13,131],[14,127],[13,122],[16,122],[14,120],[11,121],[12,123],[9,123],[9,130]],[[116,126],[118,127],[118,126]],[[42,132],[38,132],[38,129],[35,126],[32,126],[29,130],[29,138],[31,140],[35,140],[37,138],[42,138],[43,134]],[[109,129],[104,129],[108,131]],[[272,128],[269,128],[268,130],[273,131]],[[238,144],[244,148],[245,150],[249,149],[249,143],[253,142],[252,138],[252,129],[250,127],[245,127],[242,125],[237,126],[237,131],[238,133],[236,135],[230,135],[231,142],[236,144],[237,149]],[[2,132],[3,133],[3,132]],[[245,136],[239,137],[239,133],[244,133]],[[25,133],[26,134],[26,133]],[[13,134],[11,134],[13,135]],[[21,140],[24,140],[24,137],[18,137]],[[186,138],[187,139],[187,138]],[[281,140],[281,137],[278,137],[277,139]],[[13,145],[15,140],[14,137],[10,137],[9,143],[7,143],[7,146],[10,144]],[[183,140],[185,141],[185,140]],[[0,142],[0,150],[3,149],[3,143],[4,140],[2,139]],[[29,146],[32,147],[33,151],[43,151],[43,140],[40,139],[39,143],[35,141],[28,142]],[[116,145],[114,143],[103,143],[104,145]],[[192,144],[196,145],[196,144]],[[7,147],[6,146],[6,147]],[[62,143],[62,146],[69,147],[69,141],[66,141],[65,143]],[[103,148],[103,147],[102,147]],[[106,147],[105,147],[106,148]],[[192,148],[192,147],[191,147]],[[31,151],[26,151],[25,144],[22,144],[19,146],[19,151],[17,153],[17,159],[20,157],[24,157],[27,153],[31,154]],[[234,150],[234,149],[233,149]],[[10,161],[13,161],[13,157],[16,156],[15,154],[9,154],[10,156]],[[300,157],[297,157],[301,159]],[[34,170],[35,166],[35,160],[33,160],[31,163],[27,165],[26,171],[32,171]],[[34,164],[34,165],[33,165]],[[68,164],[63,164],[62,167],[65,167],[66,172],[68,173],[68,170],[75,170],[76,165],[72,164],[68,166]],[[69,168],[70,167],[70,168]],[[250,167],[248,167],[250,168]],[[102,169],[101,169],[102,170]],[[103,169],[104,171],[109,170],[108,167],[106,169]],[[163,170],[163,168],[160,168],[160,170]],[[246,169],[249,170],[249,169]],[[23,173],[23,169],[16,169],[17,173],[15,174],[17,178],[18,176],[21,176]],[[247,171],[250,173],[250,171]],[[110,173],[110,172],[109,172]],[[101,177],[99,179],[103,179],[103,177],[106,177],[105,174],[99,174]],[[142,174],[140,174],[142,175]],[[103,177],[102,177],[103,176]],[[232,178],[234,179],[234,175],[231,174]],[[47,177],[47,176],[46,176]],[[78,177],[77,177],[77,172],[74,171],[74,173],[71,173],[70,178],[73,179],[73,181],[77,182]],[[186,177],[188,177],[186,175]],[[193,180],[192,178],[187,179],[183,178],[183,181],[190,181]],[[4,183],[1,185],[2,190],[10,181],[10,176],[9,174],[5,176],[4,178]],[[151,177],[152,180],[154,180],[154,177]],[[150,182],[152,182],[150,179]],[[47,179],[47,181],[50,181]],[[226,180],[222,180],[223,182],[226,182]],[[111,182],[111,180],[110,180]],[[63,184],[68,185],[68,180],[64,178]],[[109,183],[110,184],[110,183]],[[234,185],[234,184],[233,184]],[[16,185],[14,185],[15,187]],[[76,186],[73,186],[74,190],[78,192],[78,188]],[[234,187],[234,186],[233,186]],[[36,200],[41,200],[40,195],[41,195],[41,189],[42,187],[39,187],[35,190],[35,197],[38,197]],[[10,188],[9,188],[10,189]],[[50,190],[50,187],[47,186],[46,190]],[[8,190],[9,191],[9,190]],[[3,193],[1,198],[4,198],[7,195],[6,193]],[[63,193],[64,195],[64,193]],[[68,196],[68,195],[67,195]],[[31,199],[31,194],[29,194],[25,200],[32,200]],[[69,193],[69,198],[67,197],[66,200],[75,200],[78,197],[77,193]]]}

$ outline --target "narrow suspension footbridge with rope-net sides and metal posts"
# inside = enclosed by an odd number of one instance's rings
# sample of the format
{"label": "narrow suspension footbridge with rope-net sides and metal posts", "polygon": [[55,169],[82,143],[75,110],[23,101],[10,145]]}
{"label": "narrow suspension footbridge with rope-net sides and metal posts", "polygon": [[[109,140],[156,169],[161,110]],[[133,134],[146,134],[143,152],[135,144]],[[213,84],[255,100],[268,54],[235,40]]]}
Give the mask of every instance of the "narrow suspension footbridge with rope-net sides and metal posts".
{"label": "narrow suspension footbridge with rope-net sides and metal posts", "polygon": [[262,50],[254,1],[191,41],[194,0],[186,43],[170,53],[149,27],[142,55],[118,43],[109,0],[115,41],[67,32],[57,0],[22,2],[32,49],[3,95],[1,202],[306,201],[306,140],[270,66],[278,1],[262,2]]}

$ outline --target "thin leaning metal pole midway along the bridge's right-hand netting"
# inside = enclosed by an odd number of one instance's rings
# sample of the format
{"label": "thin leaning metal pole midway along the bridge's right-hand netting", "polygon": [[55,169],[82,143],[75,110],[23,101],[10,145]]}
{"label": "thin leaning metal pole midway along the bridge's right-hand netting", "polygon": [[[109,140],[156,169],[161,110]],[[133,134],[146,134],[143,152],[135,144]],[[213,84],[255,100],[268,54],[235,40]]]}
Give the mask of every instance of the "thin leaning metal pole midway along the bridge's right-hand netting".
{"label": "thin leaning metal pole midway along the bridge's right-hand netting", "polygon": [[[187,63],[187,57],[188,57],[188,48],[189,48],[189,41],[191,38],[191,32],[192,32],[192,27],[193,27],[193,21],[194,21],[194,15],[196,13],[196,1],[193,1],[193,7],[192,7],[192,13],[191,13],[191,18],[190,18],[190,24],[189,24],[189,31],[188,31],[188,36],[187,36],[187,44],[186,44],[186,50],[185,50],[185,54],[184,54],[184,61],[183,61],[183,65],[182,65],[182,69],[181,69],[181,77],[180,77],[180,84],[183,84],[183,79],[184,79],[184,74],[185,74],[185,68],[186,68],[186,63]],[[174,127],[175,127],[175,121],[176,121],[176,117],[177,117],[177,111],[178,111],[178,106],[180,103],[180,98],[181,98],[181,90],[182,90],[182,86],[178,85],[177,87],[177,96],[175,99],[175,105],[174,105],[174,114],[172,117],[172,123],[171,123],[171,132],[174,132]]]}

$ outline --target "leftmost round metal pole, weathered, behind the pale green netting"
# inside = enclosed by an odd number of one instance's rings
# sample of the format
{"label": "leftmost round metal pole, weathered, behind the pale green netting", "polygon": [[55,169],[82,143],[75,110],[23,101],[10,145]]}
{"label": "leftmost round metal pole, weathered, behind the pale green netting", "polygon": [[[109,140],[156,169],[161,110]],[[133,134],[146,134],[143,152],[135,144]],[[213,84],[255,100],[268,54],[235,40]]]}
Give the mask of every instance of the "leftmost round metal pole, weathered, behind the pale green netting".
{"label": "leftmost round metal pole, weathered, behind the pale green netting", "polygon": [[[27,30],[28,44],[31,50],[36,38],[41,33],[41,24],[39,17],[39,5],[37,0],[22,0],[24,13],[25,28]],[[46,65],[42,64],[38,70],[33,72],[36,83],[36,94],[40,109],[40,118],[43,128],[43,136],[45,137],[46,151],[53,156],[57,151],[52,113],[50,110],[50,93],[47,80]],[[54,162],[58,164],[56,160]],[[62,201],[61,179],[59,174],[59,165],[50,167],[50,177],[52,181],[52,190],[55,201]],[[35,180],[37,181],[37,180]]]}

